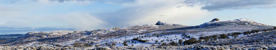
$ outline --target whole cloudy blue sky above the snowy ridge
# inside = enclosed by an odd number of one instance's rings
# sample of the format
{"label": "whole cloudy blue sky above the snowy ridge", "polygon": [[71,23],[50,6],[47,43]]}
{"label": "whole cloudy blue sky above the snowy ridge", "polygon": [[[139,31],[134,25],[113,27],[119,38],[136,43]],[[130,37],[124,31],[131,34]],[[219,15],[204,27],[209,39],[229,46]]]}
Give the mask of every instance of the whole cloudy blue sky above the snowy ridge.
{"label": "whole cloudy blue sky above the snowy ridge", "polygon": [[[0,34],[110,29],[157,21],[196,26],[213,18],[248,18],[276,26],[275,7],[276,0],[0,0]],[[22,32],[15,33],[18,29]]]}

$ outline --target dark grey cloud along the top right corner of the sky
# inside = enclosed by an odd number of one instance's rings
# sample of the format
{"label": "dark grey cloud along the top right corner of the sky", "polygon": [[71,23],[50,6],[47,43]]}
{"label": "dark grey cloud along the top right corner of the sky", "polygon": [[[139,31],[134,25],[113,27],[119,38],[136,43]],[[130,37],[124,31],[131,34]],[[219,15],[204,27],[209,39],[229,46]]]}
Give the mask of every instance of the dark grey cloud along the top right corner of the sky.
{"label": "dark grey cloud along the top right corner of the sky", "polygon": [[276,0],[185,0],[186,6],[203,5],[202,10],[236,10],[252,8],[275,8]]}

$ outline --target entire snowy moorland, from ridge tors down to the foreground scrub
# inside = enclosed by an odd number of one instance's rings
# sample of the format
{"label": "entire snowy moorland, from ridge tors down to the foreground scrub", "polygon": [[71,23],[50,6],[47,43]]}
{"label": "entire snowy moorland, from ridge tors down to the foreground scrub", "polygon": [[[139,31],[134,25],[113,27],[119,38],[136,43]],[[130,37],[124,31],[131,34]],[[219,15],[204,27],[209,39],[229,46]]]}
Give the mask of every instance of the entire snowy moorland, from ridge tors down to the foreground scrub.
{"label": "entire snowy moorland, from ridge tors down to the foreground scrub", "polygon": [[[275,49],[274,26],[246,18],[213,19],[197,26],[155,25],[87,31],[29,32],[0,49]],[[242,48],[240,48],[242,47]]]}

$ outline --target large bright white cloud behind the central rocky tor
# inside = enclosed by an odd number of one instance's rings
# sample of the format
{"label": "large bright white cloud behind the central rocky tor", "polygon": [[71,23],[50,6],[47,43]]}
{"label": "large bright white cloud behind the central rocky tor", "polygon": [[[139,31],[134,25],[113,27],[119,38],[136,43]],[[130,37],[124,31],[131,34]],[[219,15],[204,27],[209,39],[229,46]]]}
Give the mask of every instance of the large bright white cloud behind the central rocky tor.
{"label": "large bright white cloud behind the central rocky tor", "polygon": [[208,11],[201,10],[200,6],[177,7],[182,5],[180,2],[178,0],[139,0],[128,5],[127,8],[114,13],[105,13],[101,17],[110,25],[122,27],[155,24],[157,21],[183,24],[188,22],[188,18],[204,17],[208,14]]}

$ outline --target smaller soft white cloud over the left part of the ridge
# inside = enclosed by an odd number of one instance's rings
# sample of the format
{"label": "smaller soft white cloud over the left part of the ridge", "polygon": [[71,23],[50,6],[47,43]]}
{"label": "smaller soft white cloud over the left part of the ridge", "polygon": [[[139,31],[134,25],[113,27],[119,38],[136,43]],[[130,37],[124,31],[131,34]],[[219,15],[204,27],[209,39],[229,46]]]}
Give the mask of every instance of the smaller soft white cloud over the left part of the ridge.
{"label": "smaller soft white cloud over the left part of the ridge", "polygon": [[95,30],[108,27],[107,22],[91,16],[88,13],[81,12],[50,15],[50,17],[47,17],[47,20],[51,19],[65,22],[76,30]]}

